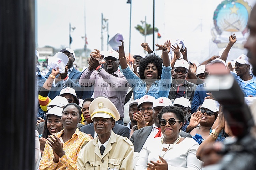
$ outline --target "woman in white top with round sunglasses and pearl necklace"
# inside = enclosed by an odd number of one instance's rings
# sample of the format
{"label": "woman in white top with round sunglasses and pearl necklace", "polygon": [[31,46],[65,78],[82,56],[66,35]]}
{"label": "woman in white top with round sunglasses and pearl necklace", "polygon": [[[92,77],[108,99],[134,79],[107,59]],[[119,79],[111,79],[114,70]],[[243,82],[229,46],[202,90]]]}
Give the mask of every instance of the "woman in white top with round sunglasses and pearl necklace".
{"label": "woman in white top with round sunglasses and pearl necklace", "polygon": [[177,106],[167,106],[162,108],[158,118],[163,135],[143,146],[134,170],[202,169],[203,163],[196,158],[198,143],[179,135],[185,121],[182,110]]}

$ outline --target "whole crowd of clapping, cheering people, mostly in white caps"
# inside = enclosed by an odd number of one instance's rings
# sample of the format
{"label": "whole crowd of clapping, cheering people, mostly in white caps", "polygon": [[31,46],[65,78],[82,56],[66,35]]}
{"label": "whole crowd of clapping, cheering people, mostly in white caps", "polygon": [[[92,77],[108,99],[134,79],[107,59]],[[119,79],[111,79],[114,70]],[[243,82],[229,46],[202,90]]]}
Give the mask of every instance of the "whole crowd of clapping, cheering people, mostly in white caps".
{"label": "whole crowd of clapping, cheering people, mostly in white caps", "polygon": [[156,44],[161,56],[142,43],[148,54],[134,55],[130,65],[122,40],[117,51],[91,52],[89,67],[80,72],[73,66],[74,51],[60,50],[54,56],[57,64],[45,76],[36,71],[35,166],[40,170],[201,170],[217,163],[221,156],[209,161],[205,149],[236,136],[223,106],[205,89],[207,79],[224,70],[238,83],[246,101],[256,99],[255,23],[256,7],[245,44],[250,53],[238,54],[234,68],[226,64],[237,41],[234,34],[227,37],[221,56],[202,63],[188,60],[189,47],[166,41]]}

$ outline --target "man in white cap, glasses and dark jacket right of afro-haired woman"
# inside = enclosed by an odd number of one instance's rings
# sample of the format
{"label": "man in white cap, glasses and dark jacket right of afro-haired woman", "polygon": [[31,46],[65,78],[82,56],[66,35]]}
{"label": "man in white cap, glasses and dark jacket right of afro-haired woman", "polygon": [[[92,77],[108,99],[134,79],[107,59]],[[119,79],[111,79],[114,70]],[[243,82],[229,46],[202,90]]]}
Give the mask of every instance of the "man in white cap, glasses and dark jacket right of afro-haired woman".
{"label": "man in white cap, glasses and dark jacket right of afro-haired woman", "polygon": [[172,80],[172,87],[169,92],[169,99],[176,99],[185,97],[189,99],[190,103],[194,97],[196,84],[190,83],[186,80],[188,76],[189,64],[186,60],[177,60],[174,64],[174,78]]}

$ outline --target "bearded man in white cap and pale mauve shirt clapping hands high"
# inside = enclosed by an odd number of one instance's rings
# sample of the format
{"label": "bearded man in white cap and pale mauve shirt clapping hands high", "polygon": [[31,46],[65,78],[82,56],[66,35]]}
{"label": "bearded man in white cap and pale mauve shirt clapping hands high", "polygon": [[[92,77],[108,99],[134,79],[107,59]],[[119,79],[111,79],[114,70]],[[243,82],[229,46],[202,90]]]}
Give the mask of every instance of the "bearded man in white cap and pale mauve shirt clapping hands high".
{"label": "bearded man in white cap and pale mauve shirt clapping hands high", "polygon": [[105,51],[104,68],[99,58],[90,54],[89,67],[82,73],[79,84],[86,86],[94,84],[94,98],[104,96],[115,104],[120,113],[120,120],[116,123],[124,125],[124,102],[128,91],[128,82],[125,76],[118,71],[119,54],[114,50]]}

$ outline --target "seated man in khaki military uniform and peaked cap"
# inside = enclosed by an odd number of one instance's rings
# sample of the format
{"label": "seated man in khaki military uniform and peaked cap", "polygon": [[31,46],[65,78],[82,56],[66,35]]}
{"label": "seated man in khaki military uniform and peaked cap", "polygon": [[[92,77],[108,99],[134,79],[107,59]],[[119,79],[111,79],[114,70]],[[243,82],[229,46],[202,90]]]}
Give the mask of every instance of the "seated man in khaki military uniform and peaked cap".
{"label": "seated man in khaki military uniform and peaked cap", "polygon": [[111,130],[115,121],[120,119],[115,105],[105,97],[98,97],[91,102],[89,110],[98,136],[80,150],[77,168],[132,170],[133,144],[127,137]]}

